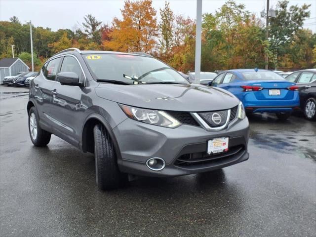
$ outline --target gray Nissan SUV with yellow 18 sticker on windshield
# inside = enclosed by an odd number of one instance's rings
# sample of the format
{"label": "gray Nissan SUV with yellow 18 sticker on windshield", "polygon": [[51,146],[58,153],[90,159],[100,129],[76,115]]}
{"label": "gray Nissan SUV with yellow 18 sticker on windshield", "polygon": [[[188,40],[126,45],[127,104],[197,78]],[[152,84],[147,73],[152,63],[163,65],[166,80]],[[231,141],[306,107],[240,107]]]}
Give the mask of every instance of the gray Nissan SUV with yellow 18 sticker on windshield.
{"label": "gray Nissan SUV with yellow 18 sticker on windshield", "polygon": [[31,81],[27,111],[35,146],[54,134],[94,153],[103,190],[127,174],[186,175],[249,158],[240,101],[144,53],[63,50]]}

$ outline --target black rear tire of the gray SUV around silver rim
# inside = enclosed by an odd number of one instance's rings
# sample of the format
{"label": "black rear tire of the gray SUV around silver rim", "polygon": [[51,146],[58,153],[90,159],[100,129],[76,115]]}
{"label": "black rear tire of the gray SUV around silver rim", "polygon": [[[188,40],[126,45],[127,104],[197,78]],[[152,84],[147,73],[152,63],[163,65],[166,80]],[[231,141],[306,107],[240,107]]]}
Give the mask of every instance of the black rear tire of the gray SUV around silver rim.
{"label": "black rear tire of the gray SUV around silver rim", "polygon": [[[34,137],[32,135],[32,131],[31,131],[32,129],[31,129],[31,124],[30,124],[30,120],[33,117],[33,115],[36,118],[34,124],[36,124],[36,129],[37,129],[36,136]],[[34,106],[29,111],[29,133],[30,133],[31,141],[34,144],[34,146],[44,147],[50,141],[51,133],[40,128],[39,115]]]}

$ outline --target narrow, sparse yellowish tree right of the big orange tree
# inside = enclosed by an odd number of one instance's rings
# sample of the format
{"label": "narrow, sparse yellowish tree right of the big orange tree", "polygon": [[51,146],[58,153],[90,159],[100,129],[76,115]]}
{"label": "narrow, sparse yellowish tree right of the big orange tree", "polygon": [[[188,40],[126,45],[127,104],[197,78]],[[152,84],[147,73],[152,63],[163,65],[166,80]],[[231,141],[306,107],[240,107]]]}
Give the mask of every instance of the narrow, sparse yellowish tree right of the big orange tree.
{"label": "narrow, sparse yellowish tree right of the big orange tree", "polygon": [[160,31],[160,53],[165,61],[170,59],[170,51],[173,46],[173,24],[174,14],[169,7],[169,2],[165,1],[164,8],[160,9],[160,18],[158,27]]}

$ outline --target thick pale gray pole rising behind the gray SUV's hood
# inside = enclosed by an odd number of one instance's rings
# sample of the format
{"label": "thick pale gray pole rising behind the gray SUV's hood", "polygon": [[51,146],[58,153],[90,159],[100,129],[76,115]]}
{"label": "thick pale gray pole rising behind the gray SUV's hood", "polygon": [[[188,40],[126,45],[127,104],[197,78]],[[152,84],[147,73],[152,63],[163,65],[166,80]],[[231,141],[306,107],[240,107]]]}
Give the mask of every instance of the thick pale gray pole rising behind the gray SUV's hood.
{"label": "thick pale gray pole rising behind the gray SUV's hood", "polygon": [[201,71],[202,0],[197,0],[195,83],[199,83]]}

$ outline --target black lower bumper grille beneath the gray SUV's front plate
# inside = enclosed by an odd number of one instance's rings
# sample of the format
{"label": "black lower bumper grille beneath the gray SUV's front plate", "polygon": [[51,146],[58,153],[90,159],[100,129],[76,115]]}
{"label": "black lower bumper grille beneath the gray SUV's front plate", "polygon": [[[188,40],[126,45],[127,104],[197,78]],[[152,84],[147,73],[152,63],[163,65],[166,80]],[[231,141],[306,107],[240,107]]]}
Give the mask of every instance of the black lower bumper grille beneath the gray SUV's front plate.
{"label": "black lower bumper grille beneath the gray SUV's front plate", "polygon": [[208,155],[207,152],[184,154],[176,159],[174,165],[180,168],[188,169],[202,168],[205,166],[213,165],[215,166],[239,158],[240,155],[244,153],[244,151],[245,147],[243,145],[237,145],[229,147],[229,150],[227,152],[219,154]]}

